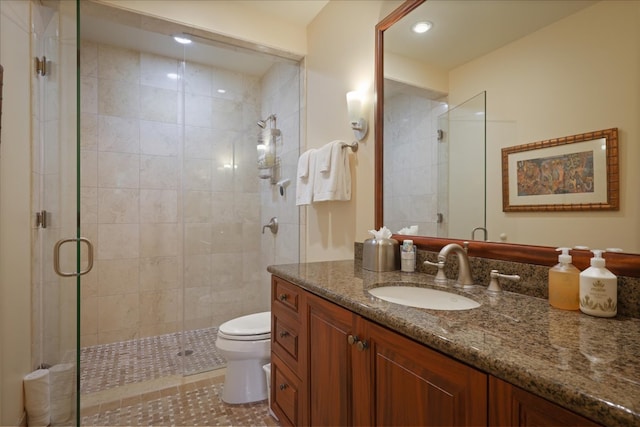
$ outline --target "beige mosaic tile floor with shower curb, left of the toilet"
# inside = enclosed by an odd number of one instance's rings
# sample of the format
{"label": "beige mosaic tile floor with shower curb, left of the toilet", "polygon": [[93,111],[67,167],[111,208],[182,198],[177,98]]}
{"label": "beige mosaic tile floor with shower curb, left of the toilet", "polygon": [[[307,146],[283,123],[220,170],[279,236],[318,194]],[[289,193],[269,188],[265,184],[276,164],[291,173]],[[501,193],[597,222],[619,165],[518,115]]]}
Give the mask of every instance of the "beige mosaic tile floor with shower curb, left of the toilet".
{"label": "beige mosaic tile floor with shower curb, left of the toilet", "polygon": [[216,333],[207,328],[83,348],[81,425],[278,426],[266,400],[222,402],[226,361],[216,352]]}

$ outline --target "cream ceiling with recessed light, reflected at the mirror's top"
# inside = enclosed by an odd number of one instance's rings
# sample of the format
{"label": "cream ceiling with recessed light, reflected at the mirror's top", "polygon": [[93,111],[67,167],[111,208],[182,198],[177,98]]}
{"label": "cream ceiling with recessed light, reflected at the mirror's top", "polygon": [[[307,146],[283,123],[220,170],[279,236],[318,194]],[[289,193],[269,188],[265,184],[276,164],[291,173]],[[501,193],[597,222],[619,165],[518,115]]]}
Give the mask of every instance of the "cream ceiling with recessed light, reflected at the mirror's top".
{"label": "cream ceiling with recessed light, reflected at the mirror's top", "polygon": [[[427,0],[385,31],[385,51],[451,70],[552,24],[594,0]],[[422,35],[411,26],[430,21]]]}

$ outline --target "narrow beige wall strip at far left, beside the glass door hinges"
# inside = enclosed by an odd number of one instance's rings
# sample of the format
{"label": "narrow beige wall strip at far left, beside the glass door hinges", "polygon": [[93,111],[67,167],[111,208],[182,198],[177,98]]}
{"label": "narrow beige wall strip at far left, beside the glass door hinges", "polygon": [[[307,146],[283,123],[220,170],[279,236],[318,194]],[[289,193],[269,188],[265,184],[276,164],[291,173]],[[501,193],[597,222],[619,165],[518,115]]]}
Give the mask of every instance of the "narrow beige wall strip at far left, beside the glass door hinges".
{"label": "narrow beige wall strip at far left, beside the glass door hinges", "polygon": [[29,13],[28,2],[0,2],[0,425],[20,422],[22,377],[31,371]]}

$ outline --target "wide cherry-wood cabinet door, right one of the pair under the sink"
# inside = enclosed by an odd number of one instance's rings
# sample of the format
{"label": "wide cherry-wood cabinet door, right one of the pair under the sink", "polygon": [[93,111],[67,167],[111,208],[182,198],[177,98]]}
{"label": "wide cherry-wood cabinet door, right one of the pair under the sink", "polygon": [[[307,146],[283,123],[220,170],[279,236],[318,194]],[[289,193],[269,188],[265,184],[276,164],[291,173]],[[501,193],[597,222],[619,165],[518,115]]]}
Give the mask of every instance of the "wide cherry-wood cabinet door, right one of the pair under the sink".
{"label": "wide cherry-wood cabinet door, right one of the pair under the sink", "polygon": [[369,322],[373,425],[487,424],[487,375]]}

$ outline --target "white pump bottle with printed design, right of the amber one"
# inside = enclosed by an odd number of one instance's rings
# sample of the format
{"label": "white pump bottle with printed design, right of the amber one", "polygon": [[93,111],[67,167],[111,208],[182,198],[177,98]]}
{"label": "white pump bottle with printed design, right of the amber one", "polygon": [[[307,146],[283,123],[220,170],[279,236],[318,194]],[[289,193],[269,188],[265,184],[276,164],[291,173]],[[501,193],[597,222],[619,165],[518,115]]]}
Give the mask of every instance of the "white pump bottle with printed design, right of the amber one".
{"label": "white pump bottle with printed design, right of the amber one", "polygon": [[591,267],[580,273],[580,311],[591,316],[618,313],[618,278],[605,268],[603,250],[594,249]]}

